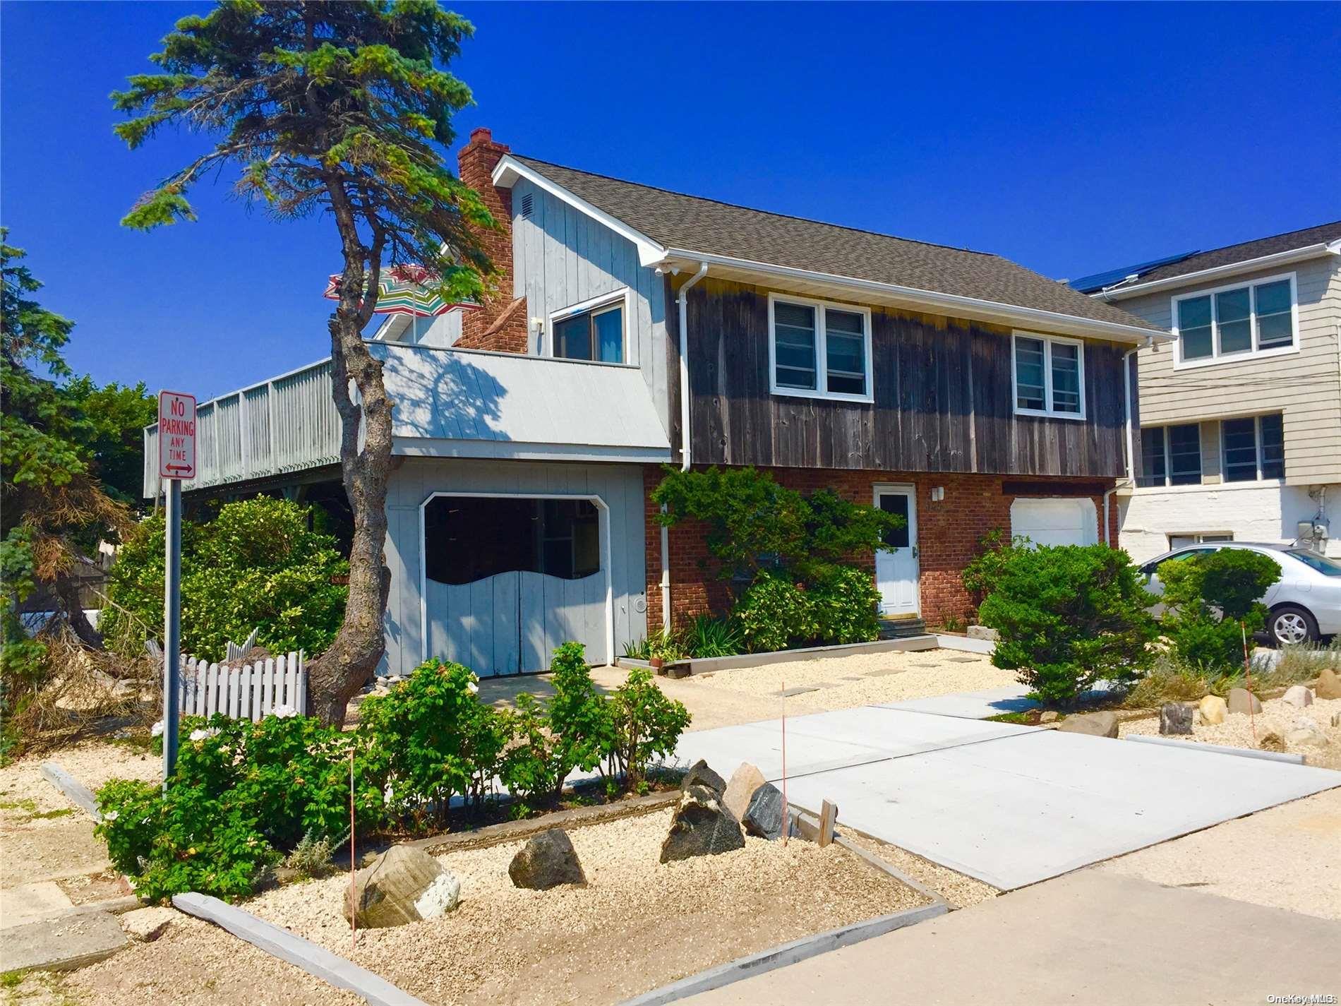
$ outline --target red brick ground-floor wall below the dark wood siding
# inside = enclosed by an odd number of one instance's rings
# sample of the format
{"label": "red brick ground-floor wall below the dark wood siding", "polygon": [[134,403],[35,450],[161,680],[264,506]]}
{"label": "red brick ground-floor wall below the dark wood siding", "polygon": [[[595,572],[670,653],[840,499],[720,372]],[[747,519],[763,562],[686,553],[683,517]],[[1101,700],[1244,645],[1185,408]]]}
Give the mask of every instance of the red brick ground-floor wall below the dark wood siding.
{"label": "red brick ground-floor wall below the dark wood siding", "polygon": [[[802,492],[831,488],[858,503],[870,503],[876,483],[912,483],[917,496],[917,554],[921,574],[921,617],[939,625],[947,617],[967,618],[972,598],[960,582],[964,566],[978,554],[979,539],[995,527],[1010,531],[1010,504],[1015,496],[1002,492],[999,475],[951,475],[925,472],[877,472],[862,469],[770,468],[783,486]],[[661,527],[654,520],[656,504],[650,492],[661,480],[661,469],[644,469],[646,499],[648,562],[648,630],[661,628]],[[1031,476],[1030,482],[1065,483],[1066,479]],[[945,490],[945,498],[933,503],[931,491]],[[1038,495],[1038,494],[1031,494]],[[1104,538],[1102,498],[1093,496],[1097,538]],[[1110,545],[1117,545],[1117,507],[1110,502]],[[874,571],[873,561],[866,561]],[[704,612],[725,613],[731,604],[727,583],[713,575],[711,557],[700,522],[685,522],[670,528],[670,601],[672,622],[683,626],[692,616]]]}

